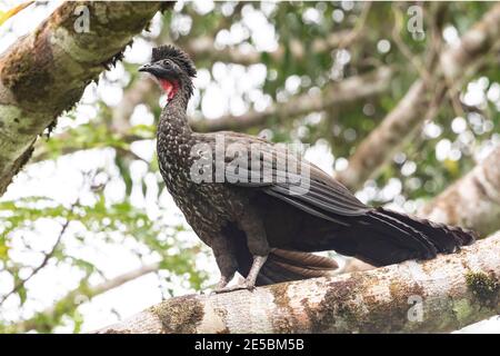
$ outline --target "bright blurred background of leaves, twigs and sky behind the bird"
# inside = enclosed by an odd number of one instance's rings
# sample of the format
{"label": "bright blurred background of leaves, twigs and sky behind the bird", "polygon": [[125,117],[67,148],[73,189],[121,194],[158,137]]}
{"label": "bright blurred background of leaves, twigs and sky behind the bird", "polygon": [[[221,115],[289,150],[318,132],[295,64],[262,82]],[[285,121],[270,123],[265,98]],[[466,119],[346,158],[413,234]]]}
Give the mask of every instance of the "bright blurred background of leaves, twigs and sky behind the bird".
{"label": "bright blurred background of leaves, twigs and sky behind the bird", "polygon": [[[176,43],[196,61],[198,130],[310,144],[306,156],[368,204],[417,212],[468,172],[500,142],[498,48],[458,86],[447,86],[436,57],[492,4],[419,3],[417,34],[407,28],[412,4],[179,1],[158,13],[38,140],[0,200],[0,330],[88,330],[218,279],[158,171],[164,98],[137,72],[154,46]],[[54,7],[36,3],[6,22],[1,50]],[[350,180],[350,157],[418,80],[422,96],[442,96],[409,106],[418,119],[401,119],[409,130],[389,157]]]}

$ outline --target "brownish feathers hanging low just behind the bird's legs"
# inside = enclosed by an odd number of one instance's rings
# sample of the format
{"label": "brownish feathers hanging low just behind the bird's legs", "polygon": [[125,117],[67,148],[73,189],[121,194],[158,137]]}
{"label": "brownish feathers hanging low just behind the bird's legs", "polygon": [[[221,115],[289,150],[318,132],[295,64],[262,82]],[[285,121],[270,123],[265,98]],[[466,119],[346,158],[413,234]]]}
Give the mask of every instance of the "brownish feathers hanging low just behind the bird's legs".
{"label": "brownish feathers hanging low just behind the bird's legs", "polygon": [[309,253],[273,249],[257,278],[257,285],[323,277],[337,269],[333,259]]}

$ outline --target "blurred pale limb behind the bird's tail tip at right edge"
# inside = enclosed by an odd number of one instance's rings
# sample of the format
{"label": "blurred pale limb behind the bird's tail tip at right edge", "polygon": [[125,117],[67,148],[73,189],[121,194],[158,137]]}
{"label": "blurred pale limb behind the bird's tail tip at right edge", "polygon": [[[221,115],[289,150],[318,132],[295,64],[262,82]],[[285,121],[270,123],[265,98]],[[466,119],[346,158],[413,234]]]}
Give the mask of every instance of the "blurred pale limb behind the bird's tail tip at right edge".
{"label": "blurred pale limb behind the bird's tail tip at right edge", "polygon": [[500,146],[448,187],[419,214],[433,221],[463,226],[482,236],[500,229]]}

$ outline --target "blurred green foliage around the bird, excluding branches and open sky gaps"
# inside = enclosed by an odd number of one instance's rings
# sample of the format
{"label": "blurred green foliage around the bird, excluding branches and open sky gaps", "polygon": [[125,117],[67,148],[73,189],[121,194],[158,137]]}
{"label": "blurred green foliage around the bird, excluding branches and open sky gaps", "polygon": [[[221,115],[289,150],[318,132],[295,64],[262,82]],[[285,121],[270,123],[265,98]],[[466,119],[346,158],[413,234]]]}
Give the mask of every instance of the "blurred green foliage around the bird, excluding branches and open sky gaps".
{"label": "blurred green foliage around the bird, excluding branches and open sky gaps", "polygon": [[[201,6],[204,3],[204,6]],[[207,4],[209,3],[209,4]],[[271,116],[266,122],[248,128],[249,134],[266,132],[273,141],[301,140],[310,145],[327,144],[333,155],[333,167],[341,168],[340,162],[347,159],[353,149],[376,128],[384,116],[396,107],[411,83],[419,78],[418,70],[409,62],[394,41],[396,13],[409,20],[408,7],[412,3],[376,2],[369,8],[363,2],[216,2],[209,1],[177,3],[173,13],[166,13],[151,24],[151,32],[144,32],[140,40],[150,47],[158,43],[176,42],[180,47],[188,47],[190,41],[208,37],[214,41],[213,52],[231,50],[259,50],[259,39],[253,36],[251,21],[257,21],[258,14],[266,18],[266,22],[274,29],[276,50],[282,51],[282,57],[277,61],[271,51],[260,51],[260,63],[264,66],[266,77],[257,88],[259,96],[248,92],[236,93],[240,96],[247,108],[260,110],[259,100],[270,98],[271,102],[286,102],[309,90],[321,90],[332,81],[341,81],[343,78],[370,72],[381,66],[391,66],[394,76],[389,90],[377,97],[368,98],[362,102],[350,102],[334,108],[328,108],[322,112],[309,113],[299,117]],[[430,2],[419,3],[423,7],[423,30],[426,37],[414,40],[403,27],[398,33],[411,56],[424,61],[430,47],[430,36],[436,26],[434,12],[437,7]],[[483,2],[456,2],[446,3],[443,11],[441,34],[453,39],[460,37],[491,7]],[[208,10],[207,10],[208,9]],[[363,17],[363,13],[366,16]],[[260,22],[259,22],[260,23]],[[159,30],[154,30],[154,26]],[[327,47],[326,50],[314,51],[314,41],[324,41],[332,33],[342,31],[358,31],[354,40],[342,43],[343,48]],[[232,41],[232,42],[231,42]],[[231,43],[230,43],[231,42]],[[292,49],[293,43],[302,46],[303,56],[297,59]],[[216,56],[214,56],[216,57]],[[127,59],[127,57],[126,57]],[[209,77],[212,85],[221,88],[221,82],[216,79],[216,66],[220,61],[210,56],[196,57],[199,73]],[[493,65],[492,65],[493,63]],[[139,63],[119,63],[117,69],[122,70],[120,78],[101,76],[99,86],[104,88],[117,86],[124,93],[136,90],[140,78],[136,68]],[[248,76],[248,68],[239,63],[223,65],[228,72],[241,70]],[[252,67],[250,66],[250,67]],[[432,75],[432,73],[431,73]],[[200,76],[199,76],[200,77]],[[244,79],[244,78],[243,78]],[[438,116],[432,122],[419,129],[402,148],[394,155],[390,165],[383,168],[381,174],[367,182],[361,195],[368,202],[384,204],[394,202],[403,206],[407,201],[429,199],[442,191],[450,182],[461,177],[474,166],[474,155],[489,142],[499,141],[499,107],[500,107],[500,69],[498,58],[484,58],[484,63],[474,78],[468,78],[461,91],[457,93],[460,106],[452,105],[447,97]],[[292,82],[299,82],[292,86]],[[468,90],[474,86],[476,92],[480,92],[482,100],[474,105],[466,105]],[[190,108],[194,118],[203,119],[203,98],[208,91],[208,85],[197,88],[197,96],[201,98]],[[113,112],[119,102],[109,105],[106,90],[97,93],[97,99],[90,103],[94,115],[81,119],[77,111],[64,116],[60,132],[50,138],[40,140],[34,159],[37,161],[58,161],[64,155],[71,155],[82,150],[112,149],[114,158],[112,167],[106,167],[102,171],[94,172],[93,178],[104,176],[97,185],[89,184],[82,188],[86,192],[86,201],[77,200],[72,205],[61,204],[50,197],[39,196],[19,198],[16,200],[0,200],[0,278],[10,276],[12,285],[19,284],[9,298],[17,298],[16,307],[21,310],[31,298],[29,285],[22,283],[27,270],[34,270],[37,265],[29,265],[20,258],[19,250],[33,251],[37,256],[50,250],[50,241],[46,248],[37,249],[30,241],[32,235],[37,235],[37,226],[42,220],[63,226],[69,222],[68,230],[60,243],[49,256],[48,265],[70,266],[79,276],[77,287],[64,290],[60,299],[52,306],[52,313],[31,313],[22,315],[19,319],[29,319],[29,328],[38,332],[53,332],[59,325],[72,325],[74,332],[79,332],[83,322],[76,295],[92,298],[92,285],[89,280],[104,280],[103,273],[99,270],[92,260],[74,255],[77,247],[84,248],[92,240],[114,245],[131,246],[130,250],[142,260],[144,256],[154,256],[160,260],[160,279],[187,281],[193,290],[207,287],[207,271],[196,264],[197,257],[206,254],[201,245],[180,238],[189,230],[186,225],[171,226],[160,217],[173,214],[171,210],[160,208],[156,217],[151,217],[143,207],[136,207],[130,196],[137,188],[137,178],[131,174],[132,166],[141,162],[146,167],[144,177],[153,175],[156,185],[156,204],[163,194],[164,187],[158,175],[158,165],[154,158],[141,156],[138,144],[154,147],[153,138],[156,120],[160,112],[157,92],[148,92],[143,98],[144,112],[151,115],[153,120],[134,120],[129,117],[121,118],[123,122],[114,122]],[[152,98],[151,98],[152,97]],[[474,100],[469,100],[474,101]],[[138,108],[136,108],[137,110]],[[140,111],[143,112],[143,111]],[[231,111],[226,108],[226,113]],[[134,112],[137,115],[137,112]],[[69,122],[69,123],[68,123]],[[448,149],[444,154],[437,151],[438,147]],[[442,150],[441,150],[442,151]],[[81,156],[78,156],[81,157]],[[114,174],[112,172],[114,171]],[[111,176],[118,175],[118,180],[123,186],[121,201],[108,201],[106,186]],[[92,179],[93,179],[92,178]],[[113,178],[114,179],[114,178]],[[391,194],[381,194],[384,187],[396,185]],[[398,189],[400,185],[400,189]],[[141,181],[139,195],[146,197],[149,188]],[[137,192],[137,191],[136,191]],[[404,206],[414,209],[414,206]],[[60,228],[59,228],[60,229]],[[54,229],[58,233],[58,229]],[[31,235],[31,238],[26,238]],[[133,241],[133,243],[132,243]],[[68,248],[69,244],[72,248]],[[190,245],[191,244],[191,245]],[[22,254],[21,254],[22,255]],[[39,260],[40,258],[34,258]],[[29,275],[29,274],[28,274]],[[36,278],[36,277],[33,277]],[[179,279],[180,278],[180,279]],[[172,284],[160,285],[164,296],[174,293]],[[69,293],[69,295],[67,295]],[[144,291],[147,293],[147,291]],[[69,297],[68,297],[69,296]],[[1,296],[0,296],[1,297]],[[1,299],[0,299],[1,300]],[[12,303],[11,303],[12,304]],[[1,307],[0,307],[1,309]],[[33,309],[33,308],[32,308]],[[39,305],[36,310],[42,312]],[[11,323],[12,317],[0,313],[0,330],[22,330],[20,324]]]}

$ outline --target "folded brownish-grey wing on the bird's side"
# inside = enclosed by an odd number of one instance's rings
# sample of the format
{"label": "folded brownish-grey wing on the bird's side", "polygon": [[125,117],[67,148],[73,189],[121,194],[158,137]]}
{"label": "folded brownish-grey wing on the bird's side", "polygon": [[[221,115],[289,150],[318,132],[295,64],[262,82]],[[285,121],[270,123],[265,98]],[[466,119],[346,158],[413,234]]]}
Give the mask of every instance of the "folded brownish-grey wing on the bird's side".
{"label": "folded brownish-grey wing on the bird's side", "polygon": [[[306,212],[342,225],[347,225],[342,217],[360,216],[370,209],[340,182],[302,159],[300,154],[260,138],[223,134],[227,182],[260,189]],[[237,158],[239,154],[234,154],[239,149],[247,151],[247,165],[238,165],[243,162]]]}

